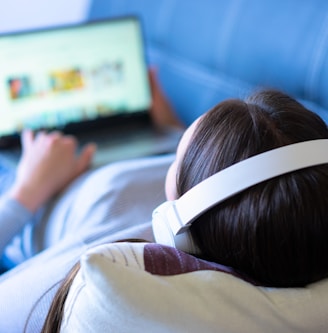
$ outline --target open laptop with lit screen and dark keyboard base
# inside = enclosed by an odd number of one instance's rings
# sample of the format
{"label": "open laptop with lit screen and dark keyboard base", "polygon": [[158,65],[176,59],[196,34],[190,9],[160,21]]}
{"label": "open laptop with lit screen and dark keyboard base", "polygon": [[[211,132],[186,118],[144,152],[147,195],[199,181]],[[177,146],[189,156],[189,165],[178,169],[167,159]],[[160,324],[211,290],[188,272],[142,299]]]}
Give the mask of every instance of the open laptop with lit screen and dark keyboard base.
{"label": "open laptop with lit screen and dark keyboard base", "polygon": [[95,142],[94,165],[170,153],[180,131],[151,123],[136,16],[0,35],[0,153],[17,162],[24,128]]}

